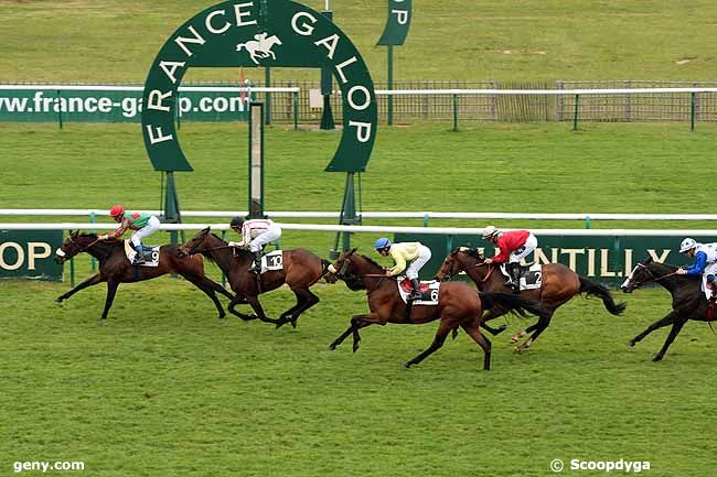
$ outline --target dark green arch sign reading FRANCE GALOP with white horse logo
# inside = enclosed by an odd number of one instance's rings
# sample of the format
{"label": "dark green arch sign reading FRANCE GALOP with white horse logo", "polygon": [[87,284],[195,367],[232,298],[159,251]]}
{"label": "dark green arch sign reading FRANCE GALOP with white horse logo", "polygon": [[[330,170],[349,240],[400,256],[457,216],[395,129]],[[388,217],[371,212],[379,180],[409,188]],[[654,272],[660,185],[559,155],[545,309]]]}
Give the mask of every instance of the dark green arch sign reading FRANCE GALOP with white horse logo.
{"label": "dark green arch sign reading FRANCE GALOP with white horse logo", "polygon": [[180,26],[145,83],[142,134],[157,171],[192,171],[176,138],[176,95],[190,67],[328,67],[342,94],[343,131],[331,172],[363,172],[376,139],[368,68],[351,40],[321,13],[290,0],[225,1]]}

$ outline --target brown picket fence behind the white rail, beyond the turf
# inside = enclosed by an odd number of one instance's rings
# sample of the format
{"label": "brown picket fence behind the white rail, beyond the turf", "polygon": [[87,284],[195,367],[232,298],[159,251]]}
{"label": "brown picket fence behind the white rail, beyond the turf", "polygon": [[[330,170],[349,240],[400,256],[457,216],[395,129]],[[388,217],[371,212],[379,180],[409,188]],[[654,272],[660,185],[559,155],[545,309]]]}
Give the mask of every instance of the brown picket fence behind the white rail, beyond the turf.
{"label": "brown picket fence behind the white rail, beyond the turf", "polygon": [[[386,89],[376,83],[376,89]],[[271,87],[299,87],[299,122],[319,123],[321,108],[311,108],[310,90],[319,89],[319,82],[274,82]],[[398,82],[394,89],[635,89],[717,87],[717,82]],[[257,95],[266,99],[264,95]],[[580,121],[717,121],[717,94],[700,93],[630,93],[589,95],[579,97]],[[271,94],[271,121],[291,122],[292,97]],[[460,95],[459,104],[446,95],[402,95],[394,97],[394,123],[416,121],[452,121],[454,107],[458,120],[492,122],[572,121],[576,97],[572,95]],[[378,96],[382,121],[387,118],[387,97]],[[341,117],[341,98],[331,97],[334,117]]]}

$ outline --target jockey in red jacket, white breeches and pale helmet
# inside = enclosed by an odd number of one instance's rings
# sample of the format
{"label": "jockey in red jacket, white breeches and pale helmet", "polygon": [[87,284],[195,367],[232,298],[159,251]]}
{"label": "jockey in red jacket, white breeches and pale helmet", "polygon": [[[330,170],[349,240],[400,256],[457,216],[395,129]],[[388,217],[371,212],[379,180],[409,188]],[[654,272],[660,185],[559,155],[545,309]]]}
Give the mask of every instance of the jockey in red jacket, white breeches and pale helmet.
{"label": "jockey in red jacket, white breeches and pale helmet", "polygon": [[501,231],[489,225],[483,229],[483,240],[493,243],[501,252],[485,263],[505,263],[509,273],[506,285],[513,288],[514,293],[521,291],[521,260],[527,257],[537,247],[537,239],[527,230]]}

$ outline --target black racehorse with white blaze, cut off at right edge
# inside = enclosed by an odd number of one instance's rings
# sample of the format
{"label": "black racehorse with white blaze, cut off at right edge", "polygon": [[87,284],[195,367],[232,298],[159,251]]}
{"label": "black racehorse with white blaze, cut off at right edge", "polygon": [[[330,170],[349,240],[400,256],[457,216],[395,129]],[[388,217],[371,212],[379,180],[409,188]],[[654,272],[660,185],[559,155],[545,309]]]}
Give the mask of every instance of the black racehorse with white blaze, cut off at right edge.
{"label": "black racehorse with white blaze, cut off at right edge", "polygon": [[654,282],[663,286],[672,295],[672,311],[628,342],[628,346],[634,346],[655,329],[672,325],[665,344],[660,353],[654,356],[653,361],[660,361],[665,356],[667,348],[670,348],[670,345],[675,340],[688,319],[711,322],[711,318],[707,317],[709,304],[700,290],[702,278],[699,275],[678,275],[676,271],[677,267],[655,262],[652,257],[648,257],[635,265],[624,283],[622,283],[622,286],[620,286],[624,293],[632,293],[633,290]]}

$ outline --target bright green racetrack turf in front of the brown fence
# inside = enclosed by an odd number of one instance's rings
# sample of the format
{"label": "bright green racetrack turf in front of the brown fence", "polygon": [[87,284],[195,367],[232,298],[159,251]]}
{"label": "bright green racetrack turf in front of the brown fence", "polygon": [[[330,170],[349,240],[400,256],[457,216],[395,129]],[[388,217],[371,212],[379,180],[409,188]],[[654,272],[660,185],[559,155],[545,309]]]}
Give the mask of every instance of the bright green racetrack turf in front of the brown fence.
{"label": "bright green racetrack turf in front of the brown fence", "polygon": [[[704,210],[711,197],[710,178],[694,173],[711,156],[711,127],[695,133],[677,124],[600,124],[577,133],[567,124],[449,129],[382,129],[364,174],[364,208],[684,213]],[[196,169],[180,176],[183,207],[243,207],[246,130],[186,124],[182,131]],[[336,209],[343,178],[321,172],[336,140],[269,128],[267,208]],[[4,207],[159,204],[159,176],[136,126],[6,124],[0,148]],[[375,238],[360,235],[355,242],[370,253]],[[332,240],[287,232],[282,245],[325,257]],[[78,279],[88,274],[88,261],[79,260]],[[483,372],[481,350],[464,335],[403,370],[431,342],[434,324],[368,328],[357,354],[350,343],[327,350],[349,317],[366,310],[364,295],[341,284],[319,285],[322,302],[296,330],[220,322],[201,292],[171,278],[122,285],[99,325],[104,289],[55,305],[67,288],[0,282],[4,474],[17,460],[60,459],[84,460],[86,471],[77,475],[108,477],[538,477],[552,474],[554,458],[649,460],[652,476],[711,471],[716,338],[704,324],[689,324],[661,364],[651,358],[665,332],[634,349],[623,346],[667,313],[662,290],[624,297],[621,317],[576,299],[522,355],[507,342],[527,323],[512,318],[509,332],[493,338],[493,370]],[[290,294],[280,290],[263,302],[277,316]]]}

